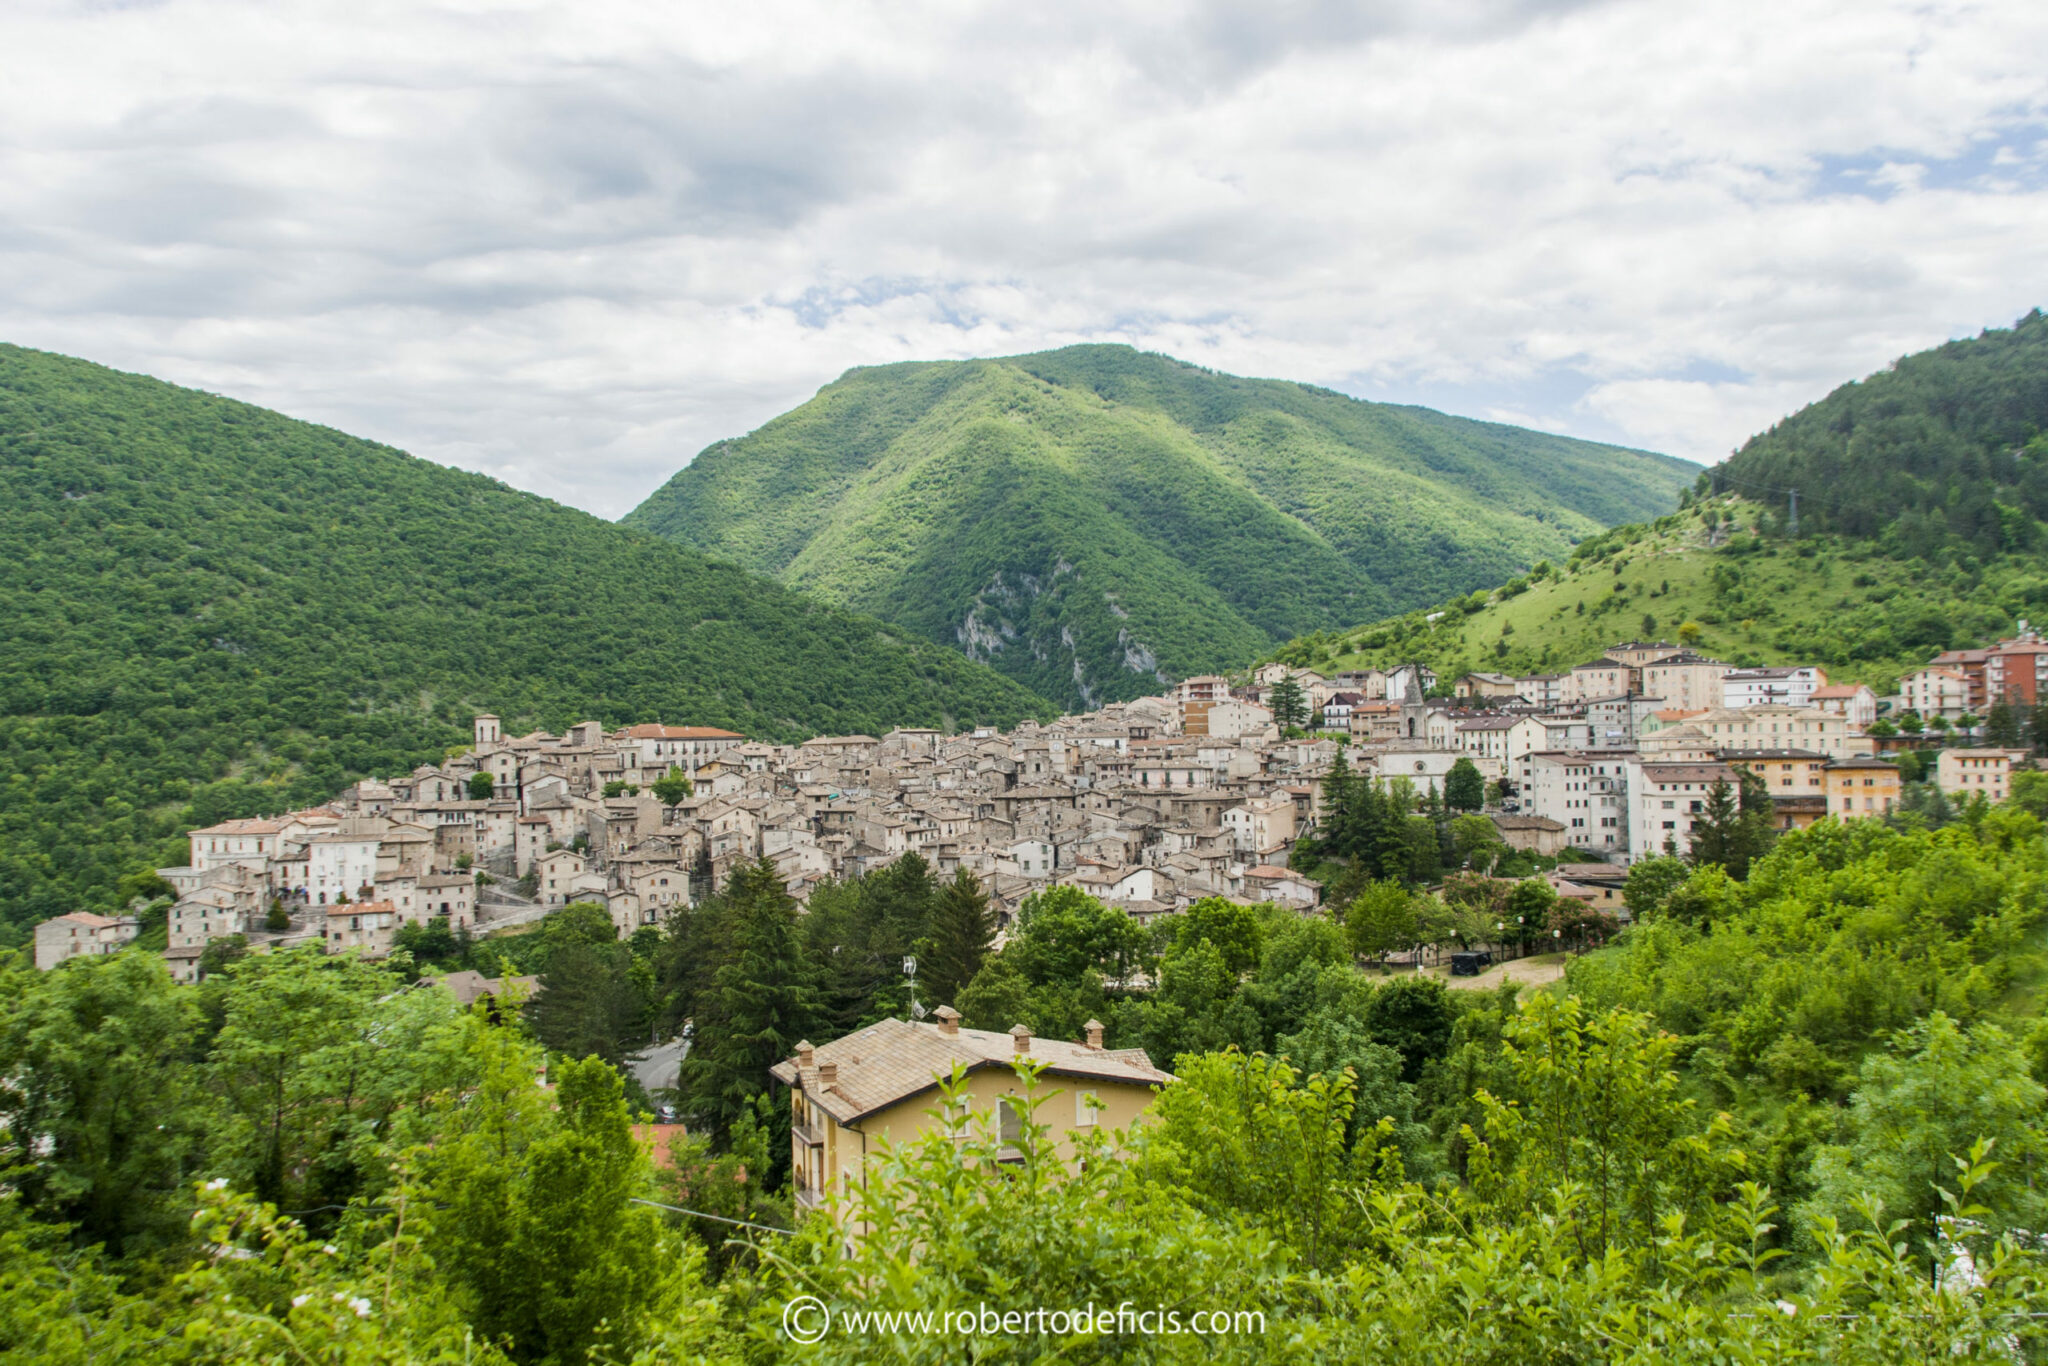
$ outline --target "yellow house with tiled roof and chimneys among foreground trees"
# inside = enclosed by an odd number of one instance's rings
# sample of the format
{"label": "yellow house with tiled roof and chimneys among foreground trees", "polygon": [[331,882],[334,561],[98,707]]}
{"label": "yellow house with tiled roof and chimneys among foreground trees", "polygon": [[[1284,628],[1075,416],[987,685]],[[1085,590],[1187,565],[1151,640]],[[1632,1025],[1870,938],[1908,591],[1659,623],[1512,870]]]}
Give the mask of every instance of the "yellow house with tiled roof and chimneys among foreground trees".
{"label": "yellow house with tiled roof and chimneys among foreground trees", "polygon": [[1010,1098],[1022,1094],[1016,1063],[1042,1065],[1036,1120],[1051,1128],[1063,1155],[1075,1130],[1124,1128],[1174,1081],[1143,1049],[1104,1049],[1102,1024],[1087,1022],[1087,1042],[1032,1038],[1022,1024],[1008,1034],[963,1030],[961,1014],[940,1006],[930,1024],[883,1020],[770,1069],[791,1090],[791,1171],[797,1208],[813,1210],[831,1192],[862,1180],[862,1165],[887,1139],[905,1145],[926,1128],[942,1126],[934,1114],[938,1083],[965,1073],[965,1096],[975,1122],[997,1124],[1001,1137],[1018,1133],[1022,1112]]}

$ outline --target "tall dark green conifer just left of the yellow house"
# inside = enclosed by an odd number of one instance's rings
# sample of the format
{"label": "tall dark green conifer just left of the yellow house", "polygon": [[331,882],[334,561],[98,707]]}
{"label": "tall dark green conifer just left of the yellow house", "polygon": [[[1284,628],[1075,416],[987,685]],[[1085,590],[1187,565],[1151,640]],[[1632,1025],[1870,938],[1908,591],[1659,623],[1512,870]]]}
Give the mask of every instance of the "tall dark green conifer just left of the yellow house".
{"label": "tall dark green conifer just left of the yellow house", "polygon": [[[819,1022],[817,977],[797,932],[797,903],[774,864],[739,864],[725,885],[725,956],[694,1020],[682,1092],[698,1124],[717,1130],[752,1110],[768,1069],[795,1057]],[[776,1110],[786,1122],[786,1112]],[[786,1143],[782,1145],[786,1151]]]}

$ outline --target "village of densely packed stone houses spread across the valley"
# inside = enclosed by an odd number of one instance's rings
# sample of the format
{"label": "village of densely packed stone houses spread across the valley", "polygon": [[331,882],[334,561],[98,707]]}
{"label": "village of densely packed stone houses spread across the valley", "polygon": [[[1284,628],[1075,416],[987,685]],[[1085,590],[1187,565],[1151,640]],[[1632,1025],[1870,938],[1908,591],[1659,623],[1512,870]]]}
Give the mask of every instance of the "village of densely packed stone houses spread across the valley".
{"label": "village of densely packed stone houses spread across the valley", "polygon": [[[487,934],[578,901],[629,936],[758,858],[801,903],[823,879],[915,852],[942,877],[977,874],[1004,924],[1049,885],[1139,920],[1202,897],[1313,909],[1321,889],[1290,862],[1339,750],[1350,772],[1417,801],[1448,795],[1466,766],[1483,799],[1456,805],[1481,805],[1509,848],[1579,860],[1552,883],[1612,909],[1626,864],[1683,856],[1712,788],[1741,770],[1763,778],[1780,829],[1892,811],[1901,772],[1880,750],[1915,737],[1882,717],[1950,729],[2001,700],[2034,707],[2048,643],[2019,627],[1937,657],[1892,698],[1812,666],[1739,670],[1628,641],[1563,674],[1450,688],[1421,666],[1325,678],[1274,664],[1008,733],[770,745],[664,723],[504,735],[479,715],[473,743],[438,766],[190,831],[190,862],[158,870],[176,893],[166,958],[193,981],[207,944],[231,936],[381,956],[408,922]],[[2021,762],[1946,748],[1935,776],[1999,801]],[[59,915],[37,928],[37,963],[133,936],[127,915]]]}

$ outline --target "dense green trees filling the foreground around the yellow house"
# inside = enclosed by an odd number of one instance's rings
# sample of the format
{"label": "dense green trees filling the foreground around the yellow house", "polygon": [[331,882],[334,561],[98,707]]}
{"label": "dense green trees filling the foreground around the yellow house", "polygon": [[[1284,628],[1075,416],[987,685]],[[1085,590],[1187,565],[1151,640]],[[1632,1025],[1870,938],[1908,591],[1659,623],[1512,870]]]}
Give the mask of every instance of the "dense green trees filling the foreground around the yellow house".
{"label": "dense green trees filling the foreground around the yellow house", "polygon": [[[410,954],[227,956],[197,987],[135,950],[0,961],[0,1360],[2038,1362],[2042,815],[2030,776],[1942,821],[1763,823],[1632,870],[1618,934],[1364,784],[1300,850],[1343,868],[1311,915],[1139,928],[1053,889],[995,950],[973,881],[905,858],[803,917],[760,864],[629,944],[569,907],[461,948],[537,971],[524,1008],[403,989]],[[1446,821],[1434,895],[1395,850]],[[1583,952],[1526,995],[1372,967],[1432,922]],[[866,1237],[778,1233],[766,1063],[899,1014],[905,946],[971,1026],[1092,1014],[1180,1079],[1071,1159],[942,1094],[954,1130],[850,1192]],[[690,1137],[655,1167],[612,1036],[680,1018]],[[819,1343],[784,1335],[799,1294],[838,1315]],[[1126,1303],[1247,1317],[848,1321]]]}

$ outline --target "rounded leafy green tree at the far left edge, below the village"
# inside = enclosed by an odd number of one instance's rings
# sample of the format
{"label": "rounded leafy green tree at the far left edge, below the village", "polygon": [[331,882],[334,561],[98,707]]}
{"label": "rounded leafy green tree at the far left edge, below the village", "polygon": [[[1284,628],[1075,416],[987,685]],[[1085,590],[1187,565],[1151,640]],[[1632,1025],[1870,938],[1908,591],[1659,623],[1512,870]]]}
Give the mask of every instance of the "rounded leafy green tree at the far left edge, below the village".
{"label": "rounded leafy green tree at the far left edge, below the village", "polygon": [[39,1219],[141,1255],[182,1239],[203,1110],[180,1067],[193,993],[156,954],[74,958],[14,975],[0,1006],[0,1165]]}

